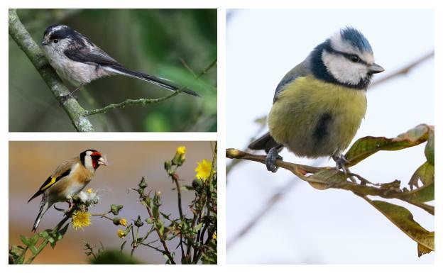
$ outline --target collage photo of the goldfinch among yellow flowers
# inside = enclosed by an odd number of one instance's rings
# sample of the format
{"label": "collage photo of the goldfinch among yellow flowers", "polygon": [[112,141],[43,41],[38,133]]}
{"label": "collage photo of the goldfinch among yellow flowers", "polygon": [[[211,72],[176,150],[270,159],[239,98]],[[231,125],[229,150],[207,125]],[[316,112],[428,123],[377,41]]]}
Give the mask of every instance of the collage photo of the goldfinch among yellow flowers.
{"label": "collage photo of the goldfinch among yellow flowers", "polygon": [[217,142],[11,141],[9,246],[10,264],[217,264]]}

